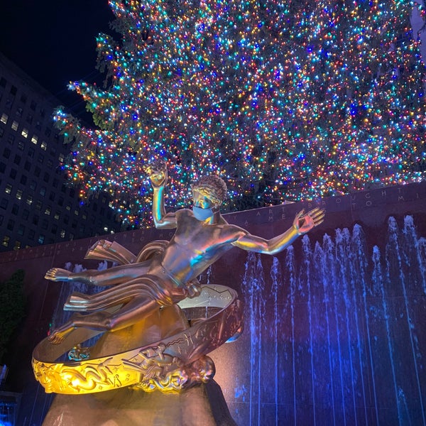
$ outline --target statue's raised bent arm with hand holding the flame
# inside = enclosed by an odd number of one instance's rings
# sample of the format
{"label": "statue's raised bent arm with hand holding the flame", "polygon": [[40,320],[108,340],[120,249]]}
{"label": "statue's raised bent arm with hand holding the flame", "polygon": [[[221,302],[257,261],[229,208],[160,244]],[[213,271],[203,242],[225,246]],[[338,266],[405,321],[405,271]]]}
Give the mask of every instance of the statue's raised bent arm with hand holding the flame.
{"label": "statue's raised bent arm with hand holding the flame", "polygon": [[150,163],[146,168],[146,173],[148,173],[154,190],[153,219],[155,228],[175,228],[177,226],[175,213],[166,213],[164,207],[164,190],[168,179],[165,161],[157,160]]}

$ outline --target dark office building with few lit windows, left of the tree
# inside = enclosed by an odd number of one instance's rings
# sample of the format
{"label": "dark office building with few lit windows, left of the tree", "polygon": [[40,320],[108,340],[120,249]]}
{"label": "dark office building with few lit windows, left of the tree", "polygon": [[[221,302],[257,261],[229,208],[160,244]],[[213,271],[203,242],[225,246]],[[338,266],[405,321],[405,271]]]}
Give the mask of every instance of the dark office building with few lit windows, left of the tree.
{"label": "dark office building with few lit windows, left of the tree", "polygon": [[87,204],[67,181],[60,102],[0,53],[0,251],[119,231],[105,194]]}

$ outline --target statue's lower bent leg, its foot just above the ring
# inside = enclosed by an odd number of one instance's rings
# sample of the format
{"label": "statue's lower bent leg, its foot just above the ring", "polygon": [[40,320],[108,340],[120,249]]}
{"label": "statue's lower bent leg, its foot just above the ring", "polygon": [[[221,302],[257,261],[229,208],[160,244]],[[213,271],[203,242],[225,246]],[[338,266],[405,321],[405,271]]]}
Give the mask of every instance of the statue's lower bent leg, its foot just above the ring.
{"label": "statue's lower bent leg, its foot just above the ring", "polygon": [[49,337],[53,344],[60,344],[73,329],[84,327],[99,331],[116,331],[129,327],[151,314],[160,305],[145,296],[135,297],[114,313],[93,312],[88,315],[75,313],[68,322],[55,329]]}

